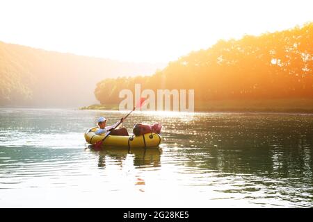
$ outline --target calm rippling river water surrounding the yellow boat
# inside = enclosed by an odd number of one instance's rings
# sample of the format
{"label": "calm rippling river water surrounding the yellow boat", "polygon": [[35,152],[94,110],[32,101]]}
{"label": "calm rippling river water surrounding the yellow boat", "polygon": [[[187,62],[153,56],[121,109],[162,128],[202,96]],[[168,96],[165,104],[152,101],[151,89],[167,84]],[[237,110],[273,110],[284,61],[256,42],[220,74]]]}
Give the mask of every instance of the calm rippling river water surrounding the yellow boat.
{"label": "calm rippling river water surrounding the yellow boat", "polygon": [[313,115],[135,112],[159,148],[88,148],[124,114],[0,109],[0,207],[313,207]]}

